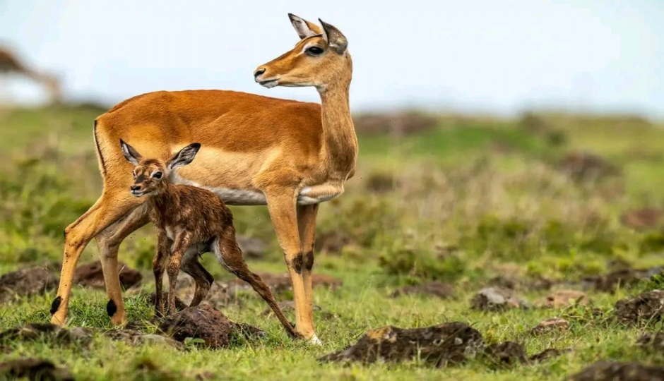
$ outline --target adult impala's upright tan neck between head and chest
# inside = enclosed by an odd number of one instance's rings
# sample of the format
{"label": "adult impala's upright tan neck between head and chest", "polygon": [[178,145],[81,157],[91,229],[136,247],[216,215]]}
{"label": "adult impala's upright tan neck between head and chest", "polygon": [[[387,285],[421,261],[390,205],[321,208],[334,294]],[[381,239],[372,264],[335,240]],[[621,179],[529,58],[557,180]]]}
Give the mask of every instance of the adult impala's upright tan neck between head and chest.
{"label": "adult impala's upright tan neck between head and chest", "polygon": [[357,157],[357,136],[350,117],[350,78],[321,87],[318,91],[321,95],[323,150],[331,169],[341,171],[345,176],[355,168]]}

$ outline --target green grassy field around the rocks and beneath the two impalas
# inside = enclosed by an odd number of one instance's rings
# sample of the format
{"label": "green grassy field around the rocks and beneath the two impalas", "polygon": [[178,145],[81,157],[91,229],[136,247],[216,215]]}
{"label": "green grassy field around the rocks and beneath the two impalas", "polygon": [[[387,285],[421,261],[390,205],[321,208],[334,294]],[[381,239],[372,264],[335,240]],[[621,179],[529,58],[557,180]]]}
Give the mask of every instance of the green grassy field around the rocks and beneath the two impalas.
{"label": "green grassy field around the rocks and beneath the two impalas", "polygon": [[[100,194],[92,137],[100,112],[70,107],[0,114],[0,274],[61,260],[64,227]],[[439,116],[434,128],[404,138],[362,135],[356,176],[342,197],[319,212],[317,236],[324,247],[316,253],[314,272],[343,280],[336,291],[314,292],[324,346],[290,341],[275,319],[260,316],[266,305],[247,292],[242,308],[223,313],[265,329],[266,339],[214,351],[129,346],[103,337],[90,348],[16,341],[0,351],[0,362],[48,358],[77,380],[182,380],[204,371],[220,380],[562,380],[603,359],[664,365],[664,353],[634,349],[639,334],[660,330],[660,322],[636,328],[588,317],[591,307],[610,314],[616,301],[653,288],[653,282],[614,293],[588,291],[591,306],[470,310],[475,292],[499,275],[524,283],[543,278],[574,283],[620,265],[664,265],[660,226],[635,230],[620,219],[628,210],[664,207],[661,147],[661,126],[627,116],[543,114],[521,122]],[[595,153],[617,168],[616,174],[571,176],[560,163],[575,150]],[[268,247],[264,258],[249,260],[251,269],[285,272],[266,207],[232,210],[239,234],[261,238]],[[120,248],[120,260],[144,275],[141,293],[125,298],[130,320],[152,317],[143,294],[154,289],[155,241],[153,227],[146,226]],[[333,241],[345,245],[337,250],[329,244]],[[229,279],[211,257],[205,263],[215,279]],[[96,259],[91,243],[80,263]],[[390,297],[401,286],[430,281],[452,284],[453,296]],[[518,292],[536,301],[551,291]],[[53,298],[50,291],[0,304],[0,327],[48,322]],[[110,328],[106,303],[105,292],[75,287],[68,324]],[[529,334],[538,322],[557,316],[569,320],[567,332]],[[316,361],[354,344],[368,329],[453,321],[478,329],[487,344],[516,341],[528,355],[547,348],[573,351],[505,369],[480,359],[444,369],[417,359],[367,366]]]}

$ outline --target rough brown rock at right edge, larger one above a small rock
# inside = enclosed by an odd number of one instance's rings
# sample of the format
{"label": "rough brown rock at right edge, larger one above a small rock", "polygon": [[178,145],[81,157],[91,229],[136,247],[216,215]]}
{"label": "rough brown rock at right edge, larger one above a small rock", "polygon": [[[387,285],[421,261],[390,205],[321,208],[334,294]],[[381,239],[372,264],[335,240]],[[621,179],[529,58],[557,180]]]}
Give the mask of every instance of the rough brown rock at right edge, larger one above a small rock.
{"label": "rough brown rock at right edge, larger one above a small rock", "polygon": [[664,310],[664,291],[648,291],[615,303],[615,317],[624,324],[657,322]]}

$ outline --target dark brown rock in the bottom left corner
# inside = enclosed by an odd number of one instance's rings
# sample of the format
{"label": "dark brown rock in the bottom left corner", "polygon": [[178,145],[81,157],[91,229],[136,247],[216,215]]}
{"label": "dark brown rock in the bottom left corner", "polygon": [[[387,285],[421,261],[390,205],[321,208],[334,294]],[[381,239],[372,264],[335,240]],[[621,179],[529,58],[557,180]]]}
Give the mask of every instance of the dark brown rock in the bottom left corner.
{"label": "dark brown rock in the bottom left corner", "polygon": [[69,370],[59,368],[51,361],[42,358],[20,358],[0,363],[0,376],[4,380],[18,380],[23,377],[28,380],[74,380]]}

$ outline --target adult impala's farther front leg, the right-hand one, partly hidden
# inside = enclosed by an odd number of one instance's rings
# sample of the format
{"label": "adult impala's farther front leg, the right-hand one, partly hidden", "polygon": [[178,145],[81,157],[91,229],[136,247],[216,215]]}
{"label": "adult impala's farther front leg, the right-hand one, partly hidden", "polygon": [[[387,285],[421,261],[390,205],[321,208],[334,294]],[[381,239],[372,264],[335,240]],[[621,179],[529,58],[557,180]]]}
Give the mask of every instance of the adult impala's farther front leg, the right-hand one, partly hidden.
{"label": "adult impala's farther front leg, the right-hand one, partly hidden", "polygon": [[[302,318],[314,327],[314,290],[312,286],[312,268],[314,267],[314,240],[316,238],[316,215],[318,204],[297,206],[297,227],[300,230],[300,241],[302,242],[302,284],[304,284],[304,310]],[[311,338],[312,344],[322,344],[314,334]]]}

